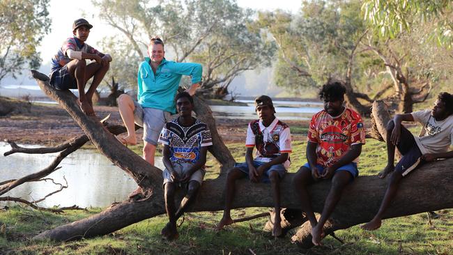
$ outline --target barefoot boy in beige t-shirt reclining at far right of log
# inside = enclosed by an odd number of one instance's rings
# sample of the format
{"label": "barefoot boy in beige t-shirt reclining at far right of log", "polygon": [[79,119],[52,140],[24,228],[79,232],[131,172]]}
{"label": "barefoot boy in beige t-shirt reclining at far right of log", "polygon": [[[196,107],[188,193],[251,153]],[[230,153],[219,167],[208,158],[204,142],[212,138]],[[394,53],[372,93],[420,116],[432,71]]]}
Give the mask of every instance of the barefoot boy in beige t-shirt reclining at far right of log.
{"label": "barefoot boy in beige t-shirt reclining at far right of log", "polygon": [[[422,137],[414,137],[401,125],[401,121],[422,123]],[[440,158],[453,157],[449,150],[453,144],[453,95],[440,93],[432,110],[415,111],[410,114],[397,114],[387,124],[387,167],[379,173],[385,178],[391,173],[384,199],[376,216],[362,229],[375,230],[381,227],[385,210],[396,196],[401,179],[420,164]],[[398,148],[403,155],[394,167],[394,150]]]}

